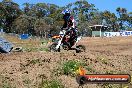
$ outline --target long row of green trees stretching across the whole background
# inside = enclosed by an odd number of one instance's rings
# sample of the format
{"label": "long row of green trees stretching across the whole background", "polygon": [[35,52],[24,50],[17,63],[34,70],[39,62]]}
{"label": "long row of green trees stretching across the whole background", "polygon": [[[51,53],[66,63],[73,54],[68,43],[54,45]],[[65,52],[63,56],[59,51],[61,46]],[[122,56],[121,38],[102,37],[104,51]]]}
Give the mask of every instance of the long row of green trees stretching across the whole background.
{"label": "long row of green trees stretching across the whole background", "polygon": [[57,34],[63,25],[61,11],[69,8],[82,34],[89,35],[90,25],[104,24],[111,31],[132,30],[132,12],[118,7],[118,16],[110,11],[101,12],[86,0],[69,3],[64,7],[55,4],[24,3],[23,8],[11,0],[0,2],[0,29],[6,33],[28,33],[35,36]]}

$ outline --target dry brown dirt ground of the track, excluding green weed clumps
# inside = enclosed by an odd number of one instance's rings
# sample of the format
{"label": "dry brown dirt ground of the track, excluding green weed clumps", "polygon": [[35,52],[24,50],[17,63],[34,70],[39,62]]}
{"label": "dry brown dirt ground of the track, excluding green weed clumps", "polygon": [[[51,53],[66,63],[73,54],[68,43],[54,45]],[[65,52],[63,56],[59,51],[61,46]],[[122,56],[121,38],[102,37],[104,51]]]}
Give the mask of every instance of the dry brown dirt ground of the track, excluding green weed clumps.
{"label": "dry brown dirt ground of the track, excluding green weed clumps", "polygon": [[[37,88],[42,75],[50,80],[53,78],[53,70],[59,66],[58,63],[71,59],[85,61],[94,74],[111,72],[132,75],[132,37],[83,38],[80,44],[86,46],[86,52],[76,54],[74,51],[60,53],[37,51],[0,54],[0,88],[3,86],[2,77],[16,88]],[[30,64],[33,60],[36,62]],[[61,75],[57,79],[61,80],[65,88],[78,87],[73,77]],[[132,88],[131,84],[128,86]],[[89,84],[84,88],[104,87]]]}

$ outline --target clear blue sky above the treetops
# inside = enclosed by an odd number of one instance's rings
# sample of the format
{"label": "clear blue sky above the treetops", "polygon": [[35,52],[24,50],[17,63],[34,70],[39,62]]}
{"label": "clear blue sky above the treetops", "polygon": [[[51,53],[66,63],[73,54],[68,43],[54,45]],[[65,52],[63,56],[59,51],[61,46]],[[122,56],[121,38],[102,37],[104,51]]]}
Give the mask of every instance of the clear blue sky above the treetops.
{"label": "clear blue sky above the treetops", "polygon": [[[2,0],[0,0],[2,1]],[[35,4],[35,3],[52,3],[59,6],[65,6],[68,3],[73,3],[77,0],[12,0],[22,7],[22,4],[25,2]],[[128,12],[132,12],[132,0],[87,0],[89,3],[95,4],[95,7],[99,9],[99,11],[111,11],[116,13],[117,7],[126,8]]]}

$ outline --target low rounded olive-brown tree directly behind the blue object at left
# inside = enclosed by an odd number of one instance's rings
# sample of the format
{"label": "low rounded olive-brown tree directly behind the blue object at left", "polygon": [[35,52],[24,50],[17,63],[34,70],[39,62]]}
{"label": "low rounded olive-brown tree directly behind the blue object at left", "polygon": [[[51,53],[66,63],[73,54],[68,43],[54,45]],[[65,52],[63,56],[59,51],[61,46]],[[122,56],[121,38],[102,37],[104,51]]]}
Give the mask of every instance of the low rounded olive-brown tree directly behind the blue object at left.
{"label": "low rounded olive-brown tree directly behind the blue object at left", "polygon": [[35,17],[21,15],[12,23],[12,32],[34,34]]}

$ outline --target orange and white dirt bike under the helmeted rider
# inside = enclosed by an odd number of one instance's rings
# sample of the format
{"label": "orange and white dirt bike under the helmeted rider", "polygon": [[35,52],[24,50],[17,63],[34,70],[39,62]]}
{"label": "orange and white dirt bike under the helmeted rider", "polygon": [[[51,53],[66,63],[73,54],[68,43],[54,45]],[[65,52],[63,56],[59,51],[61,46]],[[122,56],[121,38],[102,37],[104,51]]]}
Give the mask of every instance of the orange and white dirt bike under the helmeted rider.
{"label": "orange and white dirt bike under the helmeted rider", "polygon": [[[53,36],[52,38],[53,44],[49,47],[50,51],[60,52],[61,49],[76,50],[76,53],[85,51],[85,46],[76,45],[82,37],[75,36],[73,29],[68,29],[68,31],[62,30],[58,36]],[[72,48],[74,45],[76,45],[76,48]]]}

